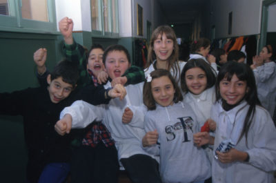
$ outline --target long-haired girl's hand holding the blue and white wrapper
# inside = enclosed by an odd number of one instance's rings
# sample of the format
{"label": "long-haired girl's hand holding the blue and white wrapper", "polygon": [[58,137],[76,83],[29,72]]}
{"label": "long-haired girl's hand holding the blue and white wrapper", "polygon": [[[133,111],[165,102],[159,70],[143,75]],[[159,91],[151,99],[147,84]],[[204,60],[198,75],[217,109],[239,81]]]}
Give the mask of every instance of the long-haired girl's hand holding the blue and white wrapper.
{"label": "long-haired girl's hand holding the blue and white wrapper", "polygon": [[244,162],[248,157],[248,153],[243,151],[237,151],[235,148],[231,148],[230,151],[226,153],[220,153],[216,151],[219,162],[221,163],[232,163],[232,162]]}

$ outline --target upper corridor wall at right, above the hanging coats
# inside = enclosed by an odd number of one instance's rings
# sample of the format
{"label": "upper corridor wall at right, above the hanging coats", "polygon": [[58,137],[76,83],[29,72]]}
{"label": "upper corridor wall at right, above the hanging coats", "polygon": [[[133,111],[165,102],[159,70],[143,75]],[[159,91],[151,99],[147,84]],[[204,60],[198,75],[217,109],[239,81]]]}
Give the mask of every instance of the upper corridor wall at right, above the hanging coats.
{"label": "upper corridor wall at right, above the hanging coats", "polygon": [[[260,33],[262,0],[213,0],[215,38],[257,35]],[[233,12],[232,34],[228,35],[228,14]]]}

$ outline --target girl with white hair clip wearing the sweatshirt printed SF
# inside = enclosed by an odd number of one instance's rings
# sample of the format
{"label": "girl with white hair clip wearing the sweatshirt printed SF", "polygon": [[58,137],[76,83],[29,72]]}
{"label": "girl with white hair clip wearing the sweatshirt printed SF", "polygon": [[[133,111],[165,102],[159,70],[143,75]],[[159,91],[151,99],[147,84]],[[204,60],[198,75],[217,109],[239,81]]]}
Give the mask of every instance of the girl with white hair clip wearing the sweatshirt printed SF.
{"label": "girl with white hair clip wearing the sweatshirt printed SF", "polygon": [[193,143],[199,131],[197,117],[184,102],[175,79],[168,70],[155,70],[144,84],[144,104],[148,108],[145,130],[157,131],[158,139],[145,147],[160,155],[163,182],[204,182],[210,177],[210,163],[202,148]]}

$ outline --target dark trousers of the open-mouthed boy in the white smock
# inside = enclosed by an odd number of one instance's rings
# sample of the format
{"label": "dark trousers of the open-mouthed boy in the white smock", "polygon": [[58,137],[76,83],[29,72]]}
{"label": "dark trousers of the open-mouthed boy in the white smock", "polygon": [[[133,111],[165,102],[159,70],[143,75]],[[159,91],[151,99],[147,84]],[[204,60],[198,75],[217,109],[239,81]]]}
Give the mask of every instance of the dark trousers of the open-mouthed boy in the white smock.
{"label": "dark trousers of the open-mouthed boy in the white smock", "polygon": [[126,168],[132,182],[161,183],[159,163],[148,155],[132,155],[121,158],[121,164]]}

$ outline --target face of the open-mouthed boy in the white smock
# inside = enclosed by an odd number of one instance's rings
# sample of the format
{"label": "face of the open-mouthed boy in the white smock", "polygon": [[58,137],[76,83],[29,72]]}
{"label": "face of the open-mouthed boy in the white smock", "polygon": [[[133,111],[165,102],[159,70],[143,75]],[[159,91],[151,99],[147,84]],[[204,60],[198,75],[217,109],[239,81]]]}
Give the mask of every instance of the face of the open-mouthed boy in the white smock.
{"label": "face of the open-mouthed boy in the white smock", "polygon": [[106,56],[106,72],[111,79],[121,77],[130,67],[124,51],[113,50]]}

